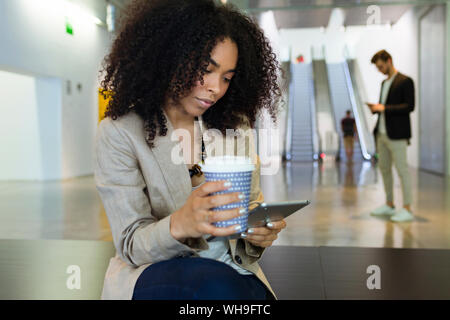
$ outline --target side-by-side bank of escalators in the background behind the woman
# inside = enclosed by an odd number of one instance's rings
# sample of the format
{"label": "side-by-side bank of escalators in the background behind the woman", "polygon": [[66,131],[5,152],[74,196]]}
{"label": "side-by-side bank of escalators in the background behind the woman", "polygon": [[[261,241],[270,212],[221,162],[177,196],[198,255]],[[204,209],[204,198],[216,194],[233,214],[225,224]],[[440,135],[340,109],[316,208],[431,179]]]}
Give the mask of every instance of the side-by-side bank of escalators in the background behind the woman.
{"label": "side-by-side bank of escalators in the background behind the woman", "polygon": [[369,130],[362,78],[354,60],[324,59],[292,64],[286,130],[286,160],[314,161],[320,154],[345,160],[341,119],[351,110],[357,127],[355,161],[371,160],[375,141]]}

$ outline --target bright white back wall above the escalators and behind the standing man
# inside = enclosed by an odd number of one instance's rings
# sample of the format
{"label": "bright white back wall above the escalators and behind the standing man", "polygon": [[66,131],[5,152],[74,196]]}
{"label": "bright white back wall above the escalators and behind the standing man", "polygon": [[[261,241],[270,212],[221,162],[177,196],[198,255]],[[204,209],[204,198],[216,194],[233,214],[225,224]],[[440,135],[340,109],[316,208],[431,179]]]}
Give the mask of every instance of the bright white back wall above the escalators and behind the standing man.
{"label": "bright white back wall above the escalators and behind the standing man", "polygon": [[[386,49],[392,54],[395,67],[415,82],[416,111],[411,114],[412,139],[408,148],[408,161],[416,168],[419,165],[418,18],[422,12],[423,9],[416,8],[407,11],[392,28],[349,26],[345,31],[341,28],[322,31],[319,28],[280,30],[281,46],[291,48],[293,60],[303,54],[305,62],[310,62],[313,58],[311,48],[319,54],[324,46],[328,63],[341,62],[344,60],[344,50],[347,47],[350,57],[358,61],[367,97],[374,102],[379,99],[380,85],[384,76],[370,63],[370,59],[381,49]],[[367,113],[370,128],[375,126],[376,119],[376,116]]]}

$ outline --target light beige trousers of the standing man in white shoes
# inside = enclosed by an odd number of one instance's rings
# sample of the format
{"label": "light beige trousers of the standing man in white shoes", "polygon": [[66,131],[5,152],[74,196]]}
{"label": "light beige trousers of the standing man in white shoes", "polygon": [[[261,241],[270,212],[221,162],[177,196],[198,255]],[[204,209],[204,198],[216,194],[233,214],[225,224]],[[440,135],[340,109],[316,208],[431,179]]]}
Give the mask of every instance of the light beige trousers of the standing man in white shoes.
{"label": "light beige trousers of the standing man in white shoes", "polygon": [[392,140],[386,134],[377,135],[378,165],[383,177],[386,200],[394,202],[392,164],[397,169],[402,186],[403,205],[411,205],[411,177],[406,160],[407,140]]}

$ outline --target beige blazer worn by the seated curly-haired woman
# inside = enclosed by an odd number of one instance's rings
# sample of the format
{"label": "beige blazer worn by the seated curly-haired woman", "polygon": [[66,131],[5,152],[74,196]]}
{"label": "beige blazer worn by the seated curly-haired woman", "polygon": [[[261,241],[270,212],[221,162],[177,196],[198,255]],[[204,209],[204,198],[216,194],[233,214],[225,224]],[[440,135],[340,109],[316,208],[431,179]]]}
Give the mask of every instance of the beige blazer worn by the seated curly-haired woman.
{"label": "beige blazer worn by the seated curly-haired woman", "polygon": [[[183,244],[170,233],[170,214],[185,204],[192,184],[186,164],[171,160],[179,142],[172,141],[174,128],[167,120],[167,134],[155,138],[153,149],[145,142],[143,121],[134,112],[114,121],[106,118],[98,127],[95,181],[116,248],[105,275],[102,299],[131,299],[139,275],[149,265],[186,253],[198,256],[208,249],[202,237]],[[253,139],[245,144],[245,154],[256,164],[250,194],[253,208],[264,201]],[[257,263],[264,249],[244,239],[229,240],[229,244],[233,261],[253,272],[273,293]]]}

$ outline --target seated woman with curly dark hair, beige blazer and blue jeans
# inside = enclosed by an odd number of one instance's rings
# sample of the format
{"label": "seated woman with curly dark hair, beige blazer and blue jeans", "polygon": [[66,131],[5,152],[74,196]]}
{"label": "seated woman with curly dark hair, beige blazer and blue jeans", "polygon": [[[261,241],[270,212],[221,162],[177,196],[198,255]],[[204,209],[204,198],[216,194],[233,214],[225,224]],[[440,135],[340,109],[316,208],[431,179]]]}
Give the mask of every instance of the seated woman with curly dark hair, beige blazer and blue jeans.
{"label": "seated woman with curly dark hair, beige blazer and blue jeans", "polygon": [[[195,152],[194,133],[253,128],[262,108],[275,121],[277,71],[262,31],[230,5],[142,0],[126,9],[104,63],[102,86],[114,94],[96,141],[96,184],[117,250],[102,298],[273,298],[257,260],[286,223],[234,240],[236,226],[214,227],[241,213],[212,208],[241,200],[209,196],[229,185],[204,182],[194,164],[208,152]],[[176,129],[191,137],[182,164],[172,158]],[[260,165],[253,141],[244,145],[257,168],[251,209],[263,201]]]}

